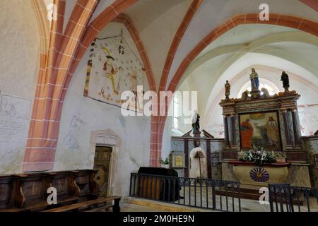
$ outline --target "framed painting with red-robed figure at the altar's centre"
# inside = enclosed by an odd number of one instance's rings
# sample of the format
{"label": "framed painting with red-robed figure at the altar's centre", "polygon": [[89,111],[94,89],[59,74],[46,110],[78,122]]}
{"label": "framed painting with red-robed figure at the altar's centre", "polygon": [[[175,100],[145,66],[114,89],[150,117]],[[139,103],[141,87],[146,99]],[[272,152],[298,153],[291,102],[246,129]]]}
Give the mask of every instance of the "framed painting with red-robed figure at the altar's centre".
{"label": "framed painting with red-robed figure at the altar's centre", "polygon": [[281,151],[281,133],[278,112],[257,112],[240,114],[241,149],[253,146],[265,150]]}

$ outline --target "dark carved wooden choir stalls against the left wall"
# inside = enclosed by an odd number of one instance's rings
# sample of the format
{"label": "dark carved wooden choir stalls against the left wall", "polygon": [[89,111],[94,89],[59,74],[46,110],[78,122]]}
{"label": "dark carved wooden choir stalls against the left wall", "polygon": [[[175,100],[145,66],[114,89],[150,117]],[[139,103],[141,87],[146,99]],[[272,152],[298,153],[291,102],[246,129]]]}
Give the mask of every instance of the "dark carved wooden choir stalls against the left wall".
{"label": "dark carved wooden choir stalls against the left wall", "polygon": [[[31,212],[98,198],[96,170],[0,175],[0,212]],[[47,189],[57,189],[57,204],[47,203]]]}

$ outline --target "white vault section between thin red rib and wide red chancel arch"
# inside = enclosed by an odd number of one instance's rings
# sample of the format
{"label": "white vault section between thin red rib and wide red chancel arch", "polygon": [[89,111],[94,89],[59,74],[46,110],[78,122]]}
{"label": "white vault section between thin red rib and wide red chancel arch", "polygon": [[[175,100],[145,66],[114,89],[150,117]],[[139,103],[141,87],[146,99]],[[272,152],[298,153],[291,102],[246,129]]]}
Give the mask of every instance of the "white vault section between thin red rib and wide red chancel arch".
{"label": "white vault section between thin red rib and wide red chancel arch", "polygon": [[[269,4],[270,13],[297,16],[318,22],[317,11],[314,11],[314,9],[298,0],[205,0],[194,15],[194,18],[189,24],[189,27],[179,44],[167,79],[167,85],[175,75],[182,60],[187,57],[187,54],[191,52],[196,44],[203,40],[209,32],[238,14],[259,13],[259,5],[263,3]],[[257,30],[254,30],[254,32],[257,32]]]}

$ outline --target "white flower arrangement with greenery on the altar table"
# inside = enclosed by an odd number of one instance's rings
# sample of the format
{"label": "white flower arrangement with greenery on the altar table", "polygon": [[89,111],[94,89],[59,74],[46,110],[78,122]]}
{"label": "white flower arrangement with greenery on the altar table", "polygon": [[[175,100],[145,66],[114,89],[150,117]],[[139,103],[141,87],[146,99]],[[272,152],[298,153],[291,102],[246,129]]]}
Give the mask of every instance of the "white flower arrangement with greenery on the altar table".
{"label": "white flower arrangement with greenery on the altar table", "polygon": [[258,167],[262,167],[264,163],[275,163],[276,157],[273,151],[266,152],[264,148],[256,148],[255,146],[253,149],[249,150],[247,153],[241,153],[238,155],[238,160],[244,162],[254,162],[255,165]]}

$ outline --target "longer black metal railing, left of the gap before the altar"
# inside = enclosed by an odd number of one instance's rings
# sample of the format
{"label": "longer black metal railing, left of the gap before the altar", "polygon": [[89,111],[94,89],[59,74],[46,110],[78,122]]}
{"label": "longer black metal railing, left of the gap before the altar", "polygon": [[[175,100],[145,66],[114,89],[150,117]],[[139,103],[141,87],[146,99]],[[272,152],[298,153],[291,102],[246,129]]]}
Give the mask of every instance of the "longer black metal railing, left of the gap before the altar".
{"label": "longer black metal railing, left of the gap before the altar", "polygon": [[241,211],[240,182],[131,173],[129,196],[196,208]]}

